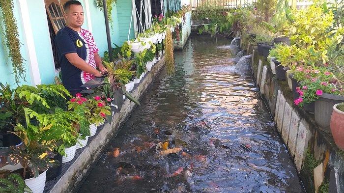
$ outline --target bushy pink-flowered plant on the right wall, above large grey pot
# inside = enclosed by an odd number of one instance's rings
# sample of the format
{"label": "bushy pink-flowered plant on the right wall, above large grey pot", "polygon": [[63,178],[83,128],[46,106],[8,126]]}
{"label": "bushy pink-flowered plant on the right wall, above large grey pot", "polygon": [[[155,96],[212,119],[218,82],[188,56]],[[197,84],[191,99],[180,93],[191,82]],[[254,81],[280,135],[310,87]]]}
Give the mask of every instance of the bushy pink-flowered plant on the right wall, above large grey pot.
{"label": "bushy pink-flowered plant on the right wall, above large grey pot", "polygon": [[300,87],[296,88],[300,97],[294,100],[295,105],[302,107],[304,103],[312,103],[323,93],[341,93],[336,77],[326,68],[312,70],[305,77],[306,79],[300,82]]}

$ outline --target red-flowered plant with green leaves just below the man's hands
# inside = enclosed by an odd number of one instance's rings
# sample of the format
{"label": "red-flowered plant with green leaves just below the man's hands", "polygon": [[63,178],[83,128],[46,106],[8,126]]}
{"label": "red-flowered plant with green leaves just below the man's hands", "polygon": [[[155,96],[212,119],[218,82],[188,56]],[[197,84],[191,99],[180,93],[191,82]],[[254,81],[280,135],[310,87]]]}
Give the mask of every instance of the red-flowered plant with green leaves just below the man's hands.
{"label": "red-flowered plant with green leaves just below the man's hands", "polygon": [[106,106],[106,103],[100,96],[86,99],[78,93],[77,96],[71,98],[67,104],[68,110],[76,109],[76,107],[79,106],[83,107],[85,109],[86,119],[90,125],[99,125],[104,122],[107,115],[111,115],[110,107]]}

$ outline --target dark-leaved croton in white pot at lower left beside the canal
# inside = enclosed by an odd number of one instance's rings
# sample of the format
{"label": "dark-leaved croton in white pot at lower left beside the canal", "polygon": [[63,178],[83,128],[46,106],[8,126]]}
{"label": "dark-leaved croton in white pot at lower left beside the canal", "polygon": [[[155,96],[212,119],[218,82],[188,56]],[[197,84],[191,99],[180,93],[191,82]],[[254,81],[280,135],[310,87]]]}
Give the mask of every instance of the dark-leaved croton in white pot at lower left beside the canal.
{"label": "dark-leaved croton in white pot at lower left beside the canal", "polygon": [[53,150],[56,144],[54,142],[40,144],[39,139],[34,135],[38,131],[37,126],[31,125],[28,118],[26,125],[24,127],[18,123],[14,130],[24,145],[0,149],[0,158],[6,159],[7,165],[20,163],[23,168],[17,171],[25,179],[25,184],[32,192],[43,193],[48,167],[59,164],[56,160],[51,160],[54,157]]}

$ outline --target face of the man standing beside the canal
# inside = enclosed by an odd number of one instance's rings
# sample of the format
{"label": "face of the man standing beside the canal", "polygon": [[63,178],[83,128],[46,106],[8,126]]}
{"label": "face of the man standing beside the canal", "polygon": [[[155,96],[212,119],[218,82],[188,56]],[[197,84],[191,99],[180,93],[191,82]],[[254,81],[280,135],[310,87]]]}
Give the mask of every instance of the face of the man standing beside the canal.
{"label": "face of the man standing beside the canal", "polygon": [[81,5],[70,5],[66,10],[67,25],[80,28],[84,24],[84,9]]}

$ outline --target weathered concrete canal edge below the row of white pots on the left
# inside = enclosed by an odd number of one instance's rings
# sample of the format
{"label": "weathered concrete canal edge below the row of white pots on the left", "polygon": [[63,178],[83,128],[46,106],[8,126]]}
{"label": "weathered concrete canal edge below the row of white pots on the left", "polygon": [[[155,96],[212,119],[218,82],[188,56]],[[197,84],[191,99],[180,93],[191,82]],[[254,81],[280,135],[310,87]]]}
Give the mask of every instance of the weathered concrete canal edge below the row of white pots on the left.
{"label": "weathered concrete canal edge below the row of white pots on the left", "polygon": [[[153,65],[151,71],[146,73],[143,80],[139,84],[135,84],[131,94],[135,98],[141,99],[164,65],[165,57],[162,57],[160,61]],[[110,140],[117,135],[118,130],[130,117],[135,107],[135,103],[126,99],[121,111],[114,114],[113,122],[98,127],[96,135],[88,139],[86,147],[77,149],[74,159],[62,164],[60,176],[46,182],[44,193],[75,192],[86,177],[89,169],[98,161]]]}

